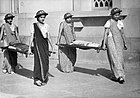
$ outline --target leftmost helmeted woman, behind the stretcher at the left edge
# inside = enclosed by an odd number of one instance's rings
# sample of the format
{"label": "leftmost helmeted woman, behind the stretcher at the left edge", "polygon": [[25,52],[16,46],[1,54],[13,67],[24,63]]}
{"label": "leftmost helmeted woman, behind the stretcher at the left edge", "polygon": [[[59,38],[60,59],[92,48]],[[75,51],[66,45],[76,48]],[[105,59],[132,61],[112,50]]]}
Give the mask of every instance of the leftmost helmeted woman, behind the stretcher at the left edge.
{"label": "leftmost helmeted woman, behind the stretcher at the left edge", "polygon": [[15,16],[11,13],[5,15],[5,23],[1,26],[0,40],[4,42],[3,73],[14,73],[17,66],[17,52],[9,50],[7,47],[16,42],[20,42],[18,27],[13,23]]}

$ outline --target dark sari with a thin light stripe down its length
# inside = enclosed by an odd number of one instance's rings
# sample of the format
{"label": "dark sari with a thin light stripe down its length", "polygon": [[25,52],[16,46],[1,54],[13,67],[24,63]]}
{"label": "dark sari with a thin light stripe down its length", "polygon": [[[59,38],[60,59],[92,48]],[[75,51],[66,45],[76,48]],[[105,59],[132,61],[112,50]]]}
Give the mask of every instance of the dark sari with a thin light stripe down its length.
{"label": "dark sari with a thin light stripe down its length", "polygon": [[49,45],[37,23],[34,23],[34,81],[48,79]]}

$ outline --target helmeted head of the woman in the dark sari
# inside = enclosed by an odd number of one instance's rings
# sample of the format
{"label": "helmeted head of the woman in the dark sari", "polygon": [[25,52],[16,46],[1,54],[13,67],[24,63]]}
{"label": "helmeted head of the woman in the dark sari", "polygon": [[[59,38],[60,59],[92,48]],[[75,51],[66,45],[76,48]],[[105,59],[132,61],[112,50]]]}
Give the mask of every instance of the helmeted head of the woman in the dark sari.
{"label": "helmeted head of the woman in the dark sari", "polygon": [[39,10],[36,13],[35,18],[37,18],[37,21],[40,22],[41,24],[44,24],[45,18],[48,15],[48,13],[46,13],[44,10]]}

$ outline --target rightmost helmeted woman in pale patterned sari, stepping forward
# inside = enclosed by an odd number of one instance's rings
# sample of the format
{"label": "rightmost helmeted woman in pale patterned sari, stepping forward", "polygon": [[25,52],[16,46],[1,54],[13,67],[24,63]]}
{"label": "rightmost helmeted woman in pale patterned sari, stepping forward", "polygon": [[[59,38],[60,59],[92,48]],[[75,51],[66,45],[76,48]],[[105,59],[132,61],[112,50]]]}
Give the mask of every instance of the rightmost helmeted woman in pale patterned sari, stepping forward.
{"label": "rightmost helmeted woman in pale patterned sari, stepping forward", "polygon": [[123,49],[127,50],[127,46],[124,25],[120,20],[121,12],[122,10],[119,8],[111,10],[111,19],[104,25],[105,32],[101,46],[104,50],[107,48],[107,55],[115,80],[123,84],[125,82]]}

